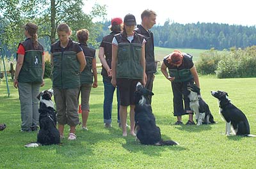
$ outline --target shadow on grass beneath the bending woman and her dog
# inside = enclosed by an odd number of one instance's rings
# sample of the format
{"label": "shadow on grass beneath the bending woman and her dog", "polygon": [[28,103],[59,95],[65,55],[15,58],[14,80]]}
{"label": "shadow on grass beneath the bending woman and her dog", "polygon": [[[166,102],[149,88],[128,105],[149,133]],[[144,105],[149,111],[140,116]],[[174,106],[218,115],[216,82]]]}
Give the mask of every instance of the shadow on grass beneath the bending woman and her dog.
{"label": "shadow on grass beneath the bending woman and her dog", "polygon": [[190,125],[174,125],[176,129],[179,129],[180,131],[189,131],[189,132],[201,132],[205,130],[211,130],[211,125],[214,124],[202,124],[200,126],[190,126]]}

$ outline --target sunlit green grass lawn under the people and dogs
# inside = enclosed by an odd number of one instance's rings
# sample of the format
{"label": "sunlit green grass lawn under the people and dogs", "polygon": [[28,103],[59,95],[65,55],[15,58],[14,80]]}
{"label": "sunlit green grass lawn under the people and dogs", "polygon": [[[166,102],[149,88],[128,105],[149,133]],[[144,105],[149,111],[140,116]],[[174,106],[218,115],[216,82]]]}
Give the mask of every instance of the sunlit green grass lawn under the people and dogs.
{"label": "sunlit green grass lawn under the people and dogs", "polygon": [[[45,87],[51,87],[47,79]],[[68,141],[68,127],[62,145],[26,148],[36,141],[36,133],[20,133],[20,105],[17,89],[10,83],[8,98],[5,82],[0,84],[0,168],[255,168],[256,138],[225,136],[225,122],[218,114],[217,99],[212,90],[227,91],[229,98],[240,108],[256,135],[256,78],[217,79],[200,77],[202,97],[208,103],[217,124],[175,126],[172,90],[161,73],[156,75],[152,109],[164,140],[179,142],[177,146],[157,147],[134,142],[134,137],[122,136],[116,123],[116,103],[113,105],[111,129],[103,124],[103,85],[92,89],[88,131],[77,126],[77,140]],[[81,115],[80,115],[81,119]],[[183,122],[188,116],[183,117]]]}

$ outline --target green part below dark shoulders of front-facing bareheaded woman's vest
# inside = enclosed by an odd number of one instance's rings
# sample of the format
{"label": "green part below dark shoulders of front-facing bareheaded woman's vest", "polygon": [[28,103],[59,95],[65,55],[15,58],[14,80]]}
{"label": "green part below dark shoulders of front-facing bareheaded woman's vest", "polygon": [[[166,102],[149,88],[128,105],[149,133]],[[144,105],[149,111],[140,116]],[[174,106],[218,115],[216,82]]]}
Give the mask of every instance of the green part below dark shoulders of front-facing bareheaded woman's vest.
{"label": "green part below dark shoulders of front-facing bareheaded woman's vest", "polygon": [[54,52],[52,87],[70,89],[80,86],[79,68],[76,52]]}

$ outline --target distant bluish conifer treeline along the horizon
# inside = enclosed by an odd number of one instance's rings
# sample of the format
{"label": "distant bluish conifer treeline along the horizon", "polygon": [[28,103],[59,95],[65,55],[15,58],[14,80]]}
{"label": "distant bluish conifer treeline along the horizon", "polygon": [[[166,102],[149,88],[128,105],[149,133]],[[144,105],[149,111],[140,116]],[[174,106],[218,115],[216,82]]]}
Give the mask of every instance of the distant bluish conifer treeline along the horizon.
{"label": "distant bluish conifer treeline along the horizon", "polygon": [[[102,34],[97,41],[109,33],[110,22],[103,23]],[[154,26],[154,43],[166,48],[200,48],[218,50],[230,47],[245,48],[256,45],[255,26],[236,26],[228,24],[178,24],[166,21],[163,26]]]}

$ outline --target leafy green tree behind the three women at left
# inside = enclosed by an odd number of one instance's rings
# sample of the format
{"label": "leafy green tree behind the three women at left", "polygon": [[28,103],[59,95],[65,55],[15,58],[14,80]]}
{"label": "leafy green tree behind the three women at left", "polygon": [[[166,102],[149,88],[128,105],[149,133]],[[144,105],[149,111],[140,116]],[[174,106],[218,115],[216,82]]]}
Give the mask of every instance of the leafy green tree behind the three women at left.
{"label": "leafy green tree behind the three women at left", "polygon": [[[8,44],[10,49],[17,47],[17,43],[23,39],[22,25],[26,22],[35,22],[39,26],[38,35],[48,37],[51,43],[56,41],[56,27],[61,22],[66,22],[75,38],[75,31],[88,29],[90,31],[90,43],[99,34],[99,27],[93,24],[95,17],[106,16],[106,6],[95,4],[90,14],[83,12],[83,0],[2,0],[0,1],[0,22],[3,32],[0,40]],[[93,36],[94,35],[94,36]],[[76,39],[76,38],[75,38]]]}

